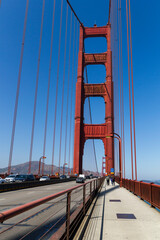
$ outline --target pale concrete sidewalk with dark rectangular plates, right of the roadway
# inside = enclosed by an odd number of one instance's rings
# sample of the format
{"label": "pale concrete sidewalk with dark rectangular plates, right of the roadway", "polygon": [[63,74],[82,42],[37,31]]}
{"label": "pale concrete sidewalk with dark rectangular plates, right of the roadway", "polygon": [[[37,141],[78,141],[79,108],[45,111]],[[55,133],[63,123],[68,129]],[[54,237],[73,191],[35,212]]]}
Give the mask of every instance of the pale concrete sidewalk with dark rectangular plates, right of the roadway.
{"label": "pale concrete sidewalk with dark rectangular plates, right of the roadway", "polygon": [[160,213],[118,184],[105,182],[83,239],[160,240]]}

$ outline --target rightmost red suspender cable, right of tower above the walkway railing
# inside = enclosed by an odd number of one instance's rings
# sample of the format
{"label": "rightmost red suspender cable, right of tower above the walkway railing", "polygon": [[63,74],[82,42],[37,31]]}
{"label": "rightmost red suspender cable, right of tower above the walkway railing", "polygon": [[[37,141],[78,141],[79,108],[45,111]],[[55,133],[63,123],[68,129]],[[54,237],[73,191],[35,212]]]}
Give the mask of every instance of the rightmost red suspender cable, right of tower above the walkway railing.
{"label": "rightmost red suspender cable, right of tower above the walkway railing", "polygon": [[133,86],[133,57],[132,57],[132,29],[131,29],[131,6],[130,5],[131,4],[130,4],[130,0],[129,0],[129,26],[130,26],[131,77],[132,77],[134,160],[135,160],[135,180],[137,180],[136,133],[135,133],[134,86]]}

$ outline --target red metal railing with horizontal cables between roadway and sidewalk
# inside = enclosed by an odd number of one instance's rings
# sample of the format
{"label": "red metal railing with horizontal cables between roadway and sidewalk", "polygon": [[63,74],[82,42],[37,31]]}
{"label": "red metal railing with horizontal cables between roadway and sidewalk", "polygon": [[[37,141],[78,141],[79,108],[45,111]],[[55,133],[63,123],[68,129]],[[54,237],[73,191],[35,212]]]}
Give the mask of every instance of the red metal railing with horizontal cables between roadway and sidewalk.
{"label": "red metal railing with horizontal cables between roadway and sidewalk", "polygon": [[[14,223],[13,227],[16,227],[16,225],[18,226],[19,223],[26,221],[26,219],[32,220],[33,216],[35,216],[37,213],[40,214],[41,212],[44,212],[45,209],[48,209],[48,204],[51,204],[52,206],[55,205],[55,208],[53,212],[51,212],[51,210],[49,211],[51,216],[49,216],[48,219],[49,221],[51,221],[51,217],[52,217],[54,221],[52,226],[49,223],[50,229],[47,230],[46,233],[42,232],[42,237],[46,237],[46,236],[48,237],[47,234],[51,230],[51,233],[49,234],[50,236],[49,239],[71,239],[74,233],[76,232],[76,229],[79,226],[81,220],[85,216],[95,195],[102,187],[104,179],[105,179],[104,177],[96,178],[84,184],[76,185],[72,188],[58,192],[56,194],[52,194],[50,196],[43,197],[41,199],[29,202],[27,204],[3,211],[0,213],[0,223],[3,223],[4,221],[19,215],[18,221],[20,217],[22,217],[22,220],[20,220],[20,222],[15,223],[16,219],[13,218],[13,223]],[[53,202],[53,201],[51,202],[51,200],[56,200],[56,202]],[[45,206],[45,208],[41,209],[39,212],[33,213],[34,211],[37,211],[37,210],[34,210],[36,207],[40,205],[43,206],[44,203],[48,203],[47,208]],[[28,216],[26,218],[27,211],[29,211],[30,209],[32,209],[33,215]],[[30,214],[30,212],[28,214]],[[23,215],[22,213],[25,213],[25,214]],[[57,216],[57,213],[60,215]],[[44,222],[40,224],[38,223],[36,228],[34,226],[34,229],[31,229],[29,232],[27,232],[27,234],[24,237],[28,237],[27,239],[34,239],[32,237],[34,230],[36,231],[36,229],[38,229],[41,225],[46,224],[47,222],[47,220],[43,219],[42,217],[39,219],[42,219],[42,221]],[[35,225],[35,222],[34,222],[34,225]],[[7,230],[11,230],[10,228],[11,227],[9,227]],[[5,231],[0,232],[0,239],[1,239],[1,235],[3,237],[3,233]]]}

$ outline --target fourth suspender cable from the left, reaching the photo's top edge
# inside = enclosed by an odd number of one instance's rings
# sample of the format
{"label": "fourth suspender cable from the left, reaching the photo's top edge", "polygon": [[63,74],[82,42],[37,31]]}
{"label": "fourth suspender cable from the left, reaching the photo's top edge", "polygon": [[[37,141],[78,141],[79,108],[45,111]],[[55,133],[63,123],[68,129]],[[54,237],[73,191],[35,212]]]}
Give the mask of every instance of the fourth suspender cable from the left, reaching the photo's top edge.
{"label": "fourth suspender cable from the left, reaching the photo's top edge", "polygon": [[[53,167],[53,163],[54,163],[54,145],[55,145],[55,132],[56,132],[56,120],[57,120],[57,97],[58,97],[59,65],[60,65],[60,52],[61,52],[60,50],[61,50],[61,33],[62,33],[62,15],[63,15],[63,0],[61,1],[61,16],[60,16],[60,31],[59,31],[56,100],[55,100],[54,129],[53,129],[52,167]],[[60,173],[60,162],[59,162],[59,173]],[[52,174],[53,174],[53,172],[52,172]]]}

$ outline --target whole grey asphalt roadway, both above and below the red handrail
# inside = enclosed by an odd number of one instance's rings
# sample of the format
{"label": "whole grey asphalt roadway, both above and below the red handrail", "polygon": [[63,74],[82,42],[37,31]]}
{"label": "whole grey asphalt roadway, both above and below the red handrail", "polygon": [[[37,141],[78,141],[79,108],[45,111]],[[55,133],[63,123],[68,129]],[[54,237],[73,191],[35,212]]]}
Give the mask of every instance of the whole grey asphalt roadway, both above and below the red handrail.
{"label": "whole grey asphalt roadway, both above and below the red handrail", "polygon": [[[61,184],[59,183],[0,193],[0,212],[52,195],[54,193],[58,193],[76,185],[79,184],[77,184],[75,181],[71,181]],[[89,194],[89,185],[87,186],[86,193],[87,195]],[[71,196],[71,211],[73,211],[82,202],[82,196],[82,189],[77,189],[74,191],[74,195]],[[64,223],[65,213],[66,195],[61,196],[58,199],[51,200],[25,213],[15,216],[5,221],[3,224],[0,224],[0,239],[48,239],[48,237],[51,236],[51,234],[53,234],[53,232],[55,232]],[[61,219],[61,221],[58,223],[58,225],[54,226],[58,219]],[[16,223],[18,224],[13,227],[13,225]],[[39,227],[39,225],[41,226]],[[47,237],[45,236],[41,238],[43,233],[52,226],[54,227],[51,231],[49,231]],[[33,232],[29,235],[26,235],[30,231]]]}

